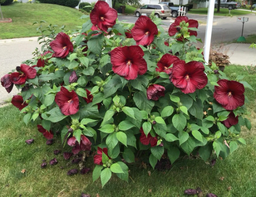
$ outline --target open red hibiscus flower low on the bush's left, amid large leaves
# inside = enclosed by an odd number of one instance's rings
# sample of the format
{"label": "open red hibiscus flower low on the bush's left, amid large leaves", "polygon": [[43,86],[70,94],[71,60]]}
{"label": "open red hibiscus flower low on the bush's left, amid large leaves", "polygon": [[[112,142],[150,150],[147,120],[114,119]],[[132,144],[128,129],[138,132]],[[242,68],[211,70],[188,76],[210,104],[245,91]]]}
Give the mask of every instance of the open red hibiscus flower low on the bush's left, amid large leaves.
{"label": "open red hibiscus flower low on the bush's left, amid large leaves", "polygon": [[61,112],[68,116],[75,114],[79,110],[79,98],[75,91],[69,92],[61,86],[61,91],[55,96],[55,102],[60,107]]}

